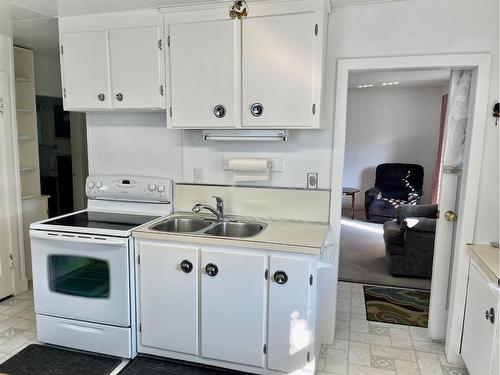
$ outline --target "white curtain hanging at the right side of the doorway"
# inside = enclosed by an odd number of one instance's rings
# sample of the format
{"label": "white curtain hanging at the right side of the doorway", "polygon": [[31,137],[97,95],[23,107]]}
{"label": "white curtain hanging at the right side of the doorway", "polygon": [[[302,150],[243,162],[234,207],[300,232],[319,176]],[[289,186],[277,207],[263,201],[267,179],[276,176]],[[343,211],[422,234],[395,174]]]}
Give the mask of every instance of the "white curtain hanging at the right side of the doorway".
{"label": "white curtain hanging at the right side of the doorway", "polygon": [[449,95],[448,124],[444,152],[444,172],[460,172],[464,163],[465,134],[469,112],[469,94],[472,71],[464,70],[455,75],[457,82]]}

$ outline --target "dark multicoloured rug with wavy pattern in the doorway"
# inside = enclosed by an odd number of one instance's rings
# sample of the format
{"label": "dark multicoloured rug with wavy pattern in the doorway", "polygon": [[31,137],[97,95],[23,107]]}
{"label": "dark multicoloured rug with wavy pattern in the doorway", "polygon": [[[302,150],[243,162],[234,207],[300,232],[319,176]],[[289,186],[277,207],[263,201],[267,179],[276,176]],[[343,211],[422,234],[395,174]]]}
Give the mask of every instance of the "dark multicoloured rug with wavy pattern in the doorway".
{"label": "dark multicoloured rug with wavy pattern in the doorway", "polygon": [[364,292],[368,320],[427,327],[429,291],[365,285]]}

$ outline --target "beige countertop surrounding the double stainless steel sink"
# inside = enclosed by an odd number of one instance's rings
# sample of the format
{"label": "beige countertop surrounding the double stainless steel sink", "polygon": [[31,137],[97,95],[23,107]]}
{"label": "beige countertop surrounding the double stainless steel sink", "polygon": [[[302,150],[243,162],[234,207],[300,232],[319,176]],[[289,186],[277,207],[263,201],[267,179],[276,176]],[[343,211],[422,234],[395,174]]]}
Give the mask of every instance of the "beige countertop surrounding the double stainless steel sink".
{"label": "beige countertop surrounding the double stainless steel sink", "polygon": [[[195,214],[207,219],[213,216],[205,214]],[[155,221],[163,221],[167,218],[179,216],[193,216],[192,213],[178,212],[165,216]],[[150,230],[154,225],[148,223],[138,227],[132,232],[135,238],[149,238],[165,241],[179,241],[196,244],[225,245],[234,247],[245,247],[272,251],[292,252],[308,255],[321,255],[322,246],[330,228],[326,223],[302,222],[302,221],[282,221],[260,218],[232,216],[239,221],[259,221],[267,224],[267,227],[258,235],[247,238],[215,237],[206,234],[192,233],[166,233]]]}

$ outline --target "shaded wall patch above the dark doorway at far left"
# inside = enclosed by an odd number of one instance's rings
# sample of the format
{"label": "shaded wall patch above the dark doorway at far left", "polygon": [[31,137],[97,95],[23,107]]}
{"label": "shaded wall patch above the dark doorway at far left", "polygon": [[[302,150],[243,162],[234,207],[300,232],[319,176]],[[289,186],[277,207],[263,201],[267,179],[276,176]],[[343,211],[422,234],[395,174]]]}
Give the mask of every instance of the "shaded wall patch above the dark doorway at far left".
{"label": "shaded wall patch above the dark doorway at far left", "polygon": [[39,52],[34,50],[33,59],[36,95],[62,97],[58,51]]}

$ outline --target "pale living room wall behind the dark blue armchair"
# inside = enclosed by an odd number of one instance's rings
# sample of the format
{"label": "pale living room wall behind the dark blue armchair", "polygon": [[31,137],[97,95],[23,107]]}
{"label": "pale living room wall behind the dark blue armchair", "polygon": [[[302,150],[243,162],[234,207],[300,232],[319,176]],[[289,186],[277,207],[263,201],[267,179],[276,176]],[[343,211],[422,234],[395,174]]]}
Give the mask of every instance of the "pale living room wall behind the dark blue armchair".
{"label": "pale living room wall behind the dark blue armchair", "polygon": [[[424,167],[423,203],[431,198],[441,114],[441,88],[353,88],[347,102],[343,185],[364,192],[374,186],[382,163]],[[345,202],[349,203],[349,202]]]}

